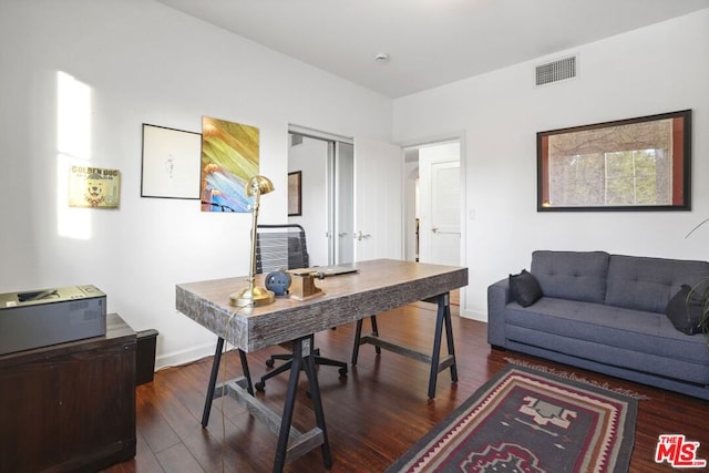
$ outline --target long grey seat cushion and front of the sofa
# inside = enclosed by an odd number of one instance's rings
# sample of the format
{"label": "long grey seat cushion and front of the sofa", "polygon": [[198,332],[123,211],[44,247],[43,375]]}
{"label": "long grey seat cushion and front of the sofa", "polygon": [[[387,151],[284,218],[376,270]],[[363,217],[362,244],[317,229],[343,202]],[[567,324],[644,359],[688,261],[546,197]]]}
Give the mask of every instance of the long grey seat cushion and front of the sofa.
{"label": "long grey seat cushion and front of the sofa", "polygon": [[[664,313],[545,296],[528,308],[507,305],[505,322],[506,338],[512,341],[709,384],[706,339],[675,330]],[[564,347],[559,340],[564,340]],[[626,354],[618,358],[621,352]],[[693,368],[680,372],[685,364]]]}

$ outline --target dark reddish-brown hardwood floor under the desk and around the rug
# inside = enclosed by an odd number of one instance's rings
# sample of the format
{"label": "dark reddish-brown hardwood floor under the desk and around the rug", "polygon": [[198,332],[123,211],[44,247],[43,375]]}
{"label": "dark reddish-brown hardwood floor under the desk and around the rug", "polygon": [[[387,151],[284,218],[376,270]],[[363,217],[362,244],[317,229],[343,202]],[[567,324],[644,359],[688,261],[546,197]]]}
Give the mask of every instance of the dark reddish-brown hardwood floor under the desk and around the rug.
{"label": "dark reddish-brown hardwood floor under the desk and around the rug", "polygon": [[[432,306],[407,306],[378,316],[380,333],[392,341],[430,351],[435,312]],[[368,323],[366,323],[368,327]],[[526,360],[557,370],[573,371],[589,380],[634,390],[648,397],[639,402],[633,472],[667,472],[667,464],[654,462],[658,435],[684,433],[700,442],[699,457],[709,459],[709,402],[636,384],[615,378],[551,363],[511,351],[491,350],[486,325],[453,317],[459,382],[450,371],[439,376],[434,400],[427,397],[428,367],[404,357],[362,347],[357,367],[346,378],[336,368],[320,367],[318,379],[332,453],[331,472],[380,472],[403,454],[419,438],[469,398],[507,361]],[[353,325],[320,332],[316,343],[322,354],[349,361]],[[278,348],[249,353],[254,381],[266,371],[265,360]],[[238,356],[227,353],[220,379],[242,374]],[[199,420],[212,358],[155,373],[152,383],[137,388],[137,455],[106,470],[120,472],[268,472],[277,436],[257,422],[236,401],[215,401],[207,429]],[[266,383],[257,393],[276,412],[282,410],[286,376]],[[315,425],[301,377],[294,424],[301,431]],[[320,450],[290,463],[288,472],[320,472]],[[696,471],[696,470],[695,470]]]}

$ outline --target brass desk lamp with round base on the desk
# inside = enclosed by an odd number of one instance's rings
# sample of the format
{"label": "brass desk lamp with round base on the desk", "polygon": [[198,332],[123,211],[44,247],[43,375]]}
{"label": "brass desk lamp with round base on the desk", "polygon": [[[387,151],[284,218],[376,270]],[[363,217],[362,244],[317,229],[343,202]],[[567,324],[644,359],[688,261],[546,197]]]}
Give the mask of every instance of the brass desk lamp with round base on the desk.
{"label": "brass desk lamp with round base on the desk", "polygon": [[246,183],[246,195],[254,197],[251,206],[251,264],[248,268],[248,287],[229,295],[229,304],[237,307],[266,306],[276,300],[273,291],[254,284],[256,275],[256,226],[258,223],[258,206],[261,195],[274,191],[274,184],[265,176],[254,176]]}

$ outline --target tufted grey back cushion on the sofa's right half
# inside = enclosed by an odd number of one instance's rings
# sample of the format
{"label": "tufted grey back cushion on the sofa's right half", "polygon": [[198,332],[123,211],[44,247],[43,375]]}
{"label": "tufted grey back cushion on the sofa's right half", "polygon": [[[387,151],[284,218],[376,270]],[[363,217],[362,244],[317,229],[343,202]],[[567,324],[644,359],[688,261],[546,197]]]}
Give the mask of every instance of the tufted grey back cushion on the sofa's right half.
{"label": "tufted grey back cushion on the sofa's right half", "polygon": [[693,286],[707,276],[707,261],[612,255],[606,304],[665,313],[682,285]]}

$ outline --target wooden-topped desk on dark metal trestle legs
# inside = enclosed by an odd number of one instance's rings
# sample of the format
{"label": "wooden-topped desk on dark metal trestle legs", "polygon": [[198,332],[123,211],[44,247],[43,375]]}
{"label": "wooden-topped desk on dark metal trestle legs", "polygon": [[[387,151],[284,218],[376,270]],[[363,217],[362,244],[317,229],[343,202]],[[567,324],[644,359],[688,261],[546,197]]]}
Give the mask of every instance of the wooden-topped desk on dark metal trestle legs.
{"label": "wooden-topped desk on dark metal trestle legs", "polygon": [[[453,381],[456,380],[453,335],[450,328],[448,292],[467,285],[467,268],[378,259],[357,264],[359,273],[326,278],[318,281],[325,295],[306,301],[277,299],[269,306],[237,309],[229,306],[229,294],[247,286],[246,278],[228,278],[209,281],[177,285],[177,310],[212,330],[222,339],[239,349],[245,378],[219,385],[216,390],[216,370],[205,402],[203,425],[206,426],[213,397],[229,394],[246,403],[250,412],[278,432],[279,440],[274,462],[274,471],[281,471],[286,461],[295,460],[306,452],[320,446],[326,467],[330,467],[330,452],[317,371],[312,357],[312,333],[340,325],[361,320],[364,317],[393,309],[407,304],[435,297],[439,302],[439,320],[435,335],[436,343],[431,357],[431,385],[435,389],[435,378],[441,369],[450,368]],[[257,279],[263,285],[263,276]],[[446,316],[448,315],[448,316]],[[448,317],[448,322],[445,322]],[[443,326],[449,341],[449,357],[443,367],[438,362]],[[286,394],[282,419],[266,410],[251,395],[248,366],[244,352],[294,341],[294,362]],[[371,342],[372,338],[368,337]],[[220,352],[217,346],[217,353]],[[379,343],[390,348],[389,343]],[[401,350],[402,354],[413,356],[411,350]],[[216,357],[215,357],[216,360]],[[429,361],[429,359],[427,359]],[[434,366],[435,364],[435,366]],[[310,382],[317,428],[300,433],[291,428],[292,410],[300,367],[304,367]],[[213,395],[214,394],[214,395]]]}

